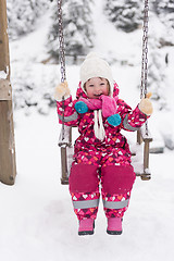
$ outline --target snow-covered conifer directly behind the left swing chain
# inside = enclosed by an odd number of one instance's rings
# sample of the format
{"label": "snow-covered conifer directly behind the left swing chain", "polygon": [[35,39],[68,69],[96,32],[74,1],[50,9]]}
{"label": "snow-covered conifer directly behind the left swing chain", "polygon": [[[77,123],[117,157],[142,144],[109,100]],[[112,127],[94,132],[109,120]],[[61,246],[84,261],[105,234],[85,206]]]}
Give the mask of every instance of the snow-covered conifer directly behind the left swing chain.
{"label": "snow-covered conifer directly behind the left swing chain", "polygon": [[[64,1],[63,10],[63,34],[66,55],[74,58],[86,54],[92,47],[92,21],[91,0]],[[59,23],[58,7],[53,7],[53,25],[49,32],[49,52],[55,59],[59,58]]]}

